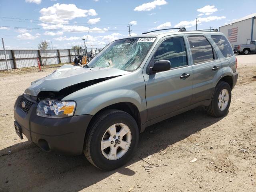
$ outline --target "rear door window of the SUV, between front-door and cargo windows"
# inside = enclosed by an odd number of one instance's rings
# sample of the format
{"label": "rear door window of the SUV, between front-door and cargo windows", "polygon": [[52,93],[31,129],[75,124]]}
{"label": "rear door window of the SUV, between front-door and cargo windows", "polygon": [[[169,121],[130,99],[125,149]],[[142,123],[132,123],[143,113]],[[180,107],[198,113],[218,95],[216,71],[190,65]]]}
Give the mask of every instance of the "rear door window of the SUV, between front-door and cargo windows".
{"label": "rear door window of the SUV, between front-door and cargo windows", "polygon": [[212,46],[204,36],[189,36],[188,41],[194,64],[214,60]]}

